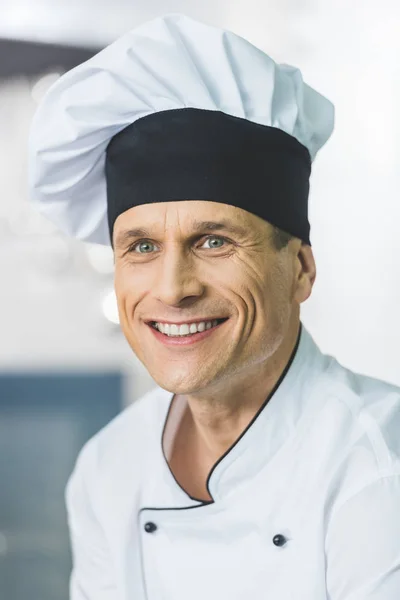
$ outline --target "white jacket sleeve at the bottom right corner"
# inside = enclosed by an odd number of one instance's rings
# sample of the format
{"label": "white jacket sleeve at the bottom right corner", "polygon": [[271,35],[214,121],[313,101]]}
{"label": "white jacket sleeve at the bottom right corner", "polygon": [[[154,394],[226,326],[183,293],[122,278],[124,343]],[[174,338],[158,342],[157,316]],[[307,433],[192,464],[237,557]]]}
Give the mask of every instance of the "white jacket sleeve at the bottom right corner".
{"label": "white jacket sleeve at the bottom right corner", "polygon": [[325,542],[328,600],[399,600],[400,472],[345,501]]}

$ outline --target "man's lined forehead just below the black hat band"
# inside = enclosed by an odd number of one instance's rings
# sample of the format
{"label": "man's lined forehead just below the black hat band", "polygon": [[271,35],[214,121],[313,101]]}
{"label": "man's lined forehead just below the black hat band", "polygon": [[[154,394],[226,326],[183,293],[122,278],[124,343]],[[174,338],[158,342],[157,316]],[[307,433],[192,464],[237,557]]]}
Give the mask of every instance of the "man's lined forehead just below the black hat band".
{"label": "man's lined forehead just below the black hat band", "polygon": [[237,206],[203,200],[158,202],[135,206],[118,216],[114,224],[116,245],[127,237],[161,234],[166,230],[179,234],[225,230],[238,235],[267,226],[266,221]]}

